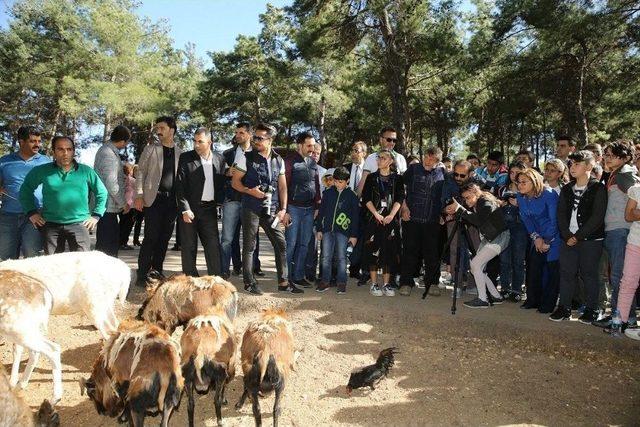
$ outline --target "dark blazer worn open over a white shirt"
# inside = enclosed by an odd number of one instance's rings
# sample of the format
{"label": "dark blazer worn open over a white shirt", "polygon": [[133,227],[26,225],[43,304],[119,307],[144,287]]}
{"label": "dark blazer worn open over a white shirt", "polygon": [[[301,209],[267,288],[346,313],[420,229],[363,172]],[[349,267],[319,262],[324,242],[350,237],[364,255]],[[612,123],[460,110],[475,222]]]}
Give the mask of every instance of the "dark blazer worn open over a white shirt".
{"label": "dark blazer worn open over a white shirt", "polygon": [[[215,151],[211,153],[213,163],[213,197],[216,204],[224,202],[224,158]],[[176,199],[178,213],[198,212],[202,191],[204,189],[204,169],[200,155],[195,151],[187,151],[180,155],[178,174],[176,176]]]}

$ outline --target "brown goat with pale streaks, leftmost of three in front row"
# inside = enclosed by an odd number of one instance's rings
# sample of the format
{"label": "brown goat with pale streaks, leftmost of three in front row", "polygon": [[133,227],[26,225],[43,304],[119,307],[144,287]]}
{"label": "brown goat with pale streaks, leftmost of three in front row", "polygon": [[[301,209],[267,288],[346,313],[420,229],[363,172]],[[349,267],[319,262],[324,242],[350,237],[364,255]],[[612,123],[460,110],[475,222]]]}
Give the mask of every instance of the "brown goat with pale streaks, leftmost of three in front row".
{"label": "brown goat with pale streaks, leftmost of three in front row", "polygon": [[101,415],[144,425],[146,415],[162,413],[166,426],[184,386],[180,349],[155,325],[124,321],[105,342],[91,377],[80,380]]}

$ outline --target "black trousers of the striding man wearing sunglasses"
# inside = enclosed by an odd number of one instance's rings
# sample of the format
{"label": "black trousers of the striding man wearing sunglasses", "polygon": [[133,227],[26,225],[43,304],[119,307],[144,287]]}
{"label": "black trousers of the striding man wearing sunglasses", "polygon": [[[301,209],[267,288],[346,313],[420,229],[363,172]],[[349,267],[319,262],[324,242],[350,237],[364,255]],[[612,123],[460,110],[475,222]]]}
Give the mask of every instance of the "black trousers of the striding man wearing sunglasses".
{"label": "black trousers of the striding man wearing sunglasses", "polygon": [[278,226],[271,228],[271,218],[265,218],[251,209],[243,209],[240,213],[242,220],[242,279],[245,285],[257,283],[253,275],[253,251],[256,247],[256,235],[258,227],[262,227],[264,234],[273,246],[276,258],[276,273],[278,285],[288,281],[287,274],[287,243],[284,239],[284,231]]}

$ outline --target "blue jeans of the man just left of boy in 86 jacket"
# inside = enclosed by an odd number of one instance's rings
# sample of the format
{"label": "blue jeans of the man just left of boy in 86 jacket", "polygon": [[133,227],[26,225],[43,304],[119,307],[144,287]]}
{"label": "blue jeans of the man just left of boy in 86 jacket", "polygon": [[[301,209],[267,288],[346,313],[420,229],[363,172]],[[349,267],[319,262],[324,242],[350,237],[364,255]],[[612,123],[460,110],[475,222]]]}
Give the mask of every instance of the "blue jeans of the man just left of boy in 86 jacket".
{"label": "blue jeans of the man just left of boy in 86 jacket", "polygon": [[287,241],[287,270],[289,279],[297,282],[304,279],[304,266],[313,235],[313,207],[289,206],[291,224],[285,229]]}

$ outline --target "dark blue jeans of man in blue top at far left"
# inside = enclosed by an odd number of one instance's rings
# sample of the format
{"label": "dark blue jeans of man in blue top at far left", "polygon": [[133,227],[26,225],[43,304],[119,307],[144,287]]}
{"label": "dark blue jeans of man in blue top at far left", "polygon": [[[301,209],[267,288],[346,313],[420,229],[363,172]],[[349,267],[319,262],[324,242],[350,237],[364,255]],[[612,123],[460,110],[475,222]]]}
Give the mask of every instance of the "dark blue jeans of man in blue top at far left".
{"label": "dark blue jeans of man in blue top at far left", "polygon": [[0,213],[0,260],[28,258],[42,251],[42,235],[25,214]]}

